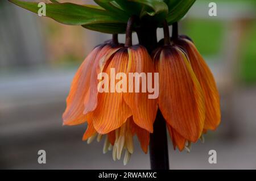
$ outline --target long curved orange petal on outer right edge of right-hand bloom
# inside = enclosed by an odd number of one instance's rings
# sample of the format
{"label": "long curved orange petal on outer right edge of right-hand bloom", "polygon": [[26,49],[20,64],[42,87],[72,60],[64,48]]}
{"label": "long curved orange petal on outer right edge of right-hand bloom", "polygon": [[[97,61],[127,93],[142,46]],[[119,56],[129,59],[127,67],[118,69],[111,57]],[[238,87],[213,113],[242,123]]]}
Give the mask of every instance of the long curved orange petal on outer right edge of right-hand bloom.
{"label": "long curved orange petal on outer right edge of right-hand bloom", "polygon": [[204,129],[214,130],[220,124],[221,113],[220,96],[218,95],[213,74],[191,41],[181,39],[177,43],[187,51],[193,71],[204,91],[206,111]]}

